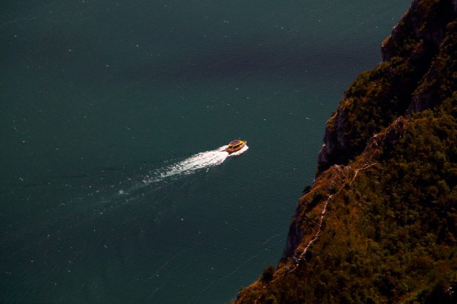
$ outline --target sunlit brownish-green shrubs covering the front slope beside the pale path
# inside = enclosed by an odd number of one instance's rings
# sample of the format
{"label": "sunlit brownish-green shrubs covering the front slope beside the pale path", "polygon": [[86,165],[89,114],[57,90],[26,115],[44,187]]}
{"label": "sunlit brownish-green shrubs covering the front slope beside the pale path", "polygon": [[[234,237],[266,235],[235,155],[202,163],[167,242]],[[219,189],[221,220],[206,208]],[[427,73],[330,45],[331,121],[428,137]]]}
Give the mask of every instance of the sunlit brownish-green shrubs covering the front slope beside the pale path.
{"label": "sunlit brownish-green shrubs covering the front slope beside the pale path", "polygon": [[[306,261],[290,271],[285,258],[274,282],[267,268],[242,303],[457,303],[457,117],[437,107],[409,121],[396,145],[378,147],[377,164],[338,185]],[[309,193],[305,222],[316,225],[323,199]]]}

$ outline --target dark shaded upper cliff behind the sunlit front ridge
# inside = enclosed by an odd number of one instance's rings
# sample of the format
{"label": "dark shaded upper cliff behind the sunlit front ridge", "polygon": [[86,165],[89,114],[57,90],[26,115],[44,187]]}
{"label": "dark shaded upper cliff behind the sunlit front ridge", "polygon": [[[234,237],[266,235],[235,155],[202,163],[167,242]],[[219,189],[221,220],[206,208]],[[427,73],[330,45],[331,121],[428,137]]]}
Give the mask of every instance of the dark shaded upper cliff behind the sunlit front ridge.
{"label": "dark shaded upper cliff behind the sunlit front ridge", "polygon": [[440,46],[450,34],[448,25],[456,18],[456,3],[413,1],[382,42],[383,62],[354,81],[327,122],[318,156],[320,171],[333,164],[347,164],[363,151],[374,133],[396,117],[421,112],[442,101],[439,86],[449,81],[449,74],[437,71],[437,65],[446,63],[435,58],[441,55]]}

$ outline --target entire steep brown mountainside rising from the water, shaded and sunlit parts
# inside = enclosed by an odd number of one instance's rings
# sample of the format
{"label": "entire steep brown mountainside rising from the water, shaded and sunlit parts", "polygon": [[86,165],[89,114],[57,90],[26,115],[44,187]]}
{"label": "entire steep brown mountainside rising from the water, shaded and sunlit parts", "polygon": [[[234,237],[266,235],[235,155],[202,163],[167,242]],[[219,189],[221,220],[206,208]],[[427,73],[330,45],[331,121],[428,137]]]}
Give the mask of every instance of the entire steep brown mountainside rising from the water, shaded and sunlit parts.
{"label": "entire steep brown mountainside rising from the water, shaded and sunlit parts", "polygon": [[329,119],[283,258],[236,303],[457,303],[456,17],[413,1]]}

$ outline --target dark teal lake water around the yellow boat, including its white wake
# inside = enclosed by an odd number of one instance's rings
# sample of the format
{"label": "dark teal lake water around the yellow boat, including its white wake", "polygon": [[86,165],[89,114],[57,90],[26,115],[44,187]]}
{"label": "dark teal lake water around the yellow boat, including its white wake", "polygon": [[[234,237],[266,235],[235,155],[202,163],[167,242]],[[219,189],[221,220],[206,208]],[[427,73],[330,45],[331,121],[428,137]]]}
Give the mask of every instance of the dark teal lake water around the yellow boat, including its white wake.
{"label": "dark teal lake water around the yellow boat, including its white wake", "polygon": [[3,4],[0,302],[235,297],[281,258],[326,120],[408,5]]}

